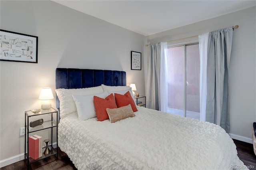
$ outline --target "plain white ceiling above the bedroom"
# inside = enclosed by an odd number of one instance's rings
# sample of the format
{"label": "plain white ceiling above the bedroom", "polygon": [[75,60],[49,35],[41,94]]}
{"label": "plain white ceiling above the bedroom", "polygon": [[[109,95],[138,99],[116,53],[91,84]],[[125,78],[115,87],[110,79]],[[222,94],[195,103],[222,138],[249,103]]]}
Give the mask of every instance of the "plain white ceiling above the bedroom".
{"label": "plain white ceiling above the bedroom", "polygon": [[144,36],[256,6],[256,0],[53,0]]}

